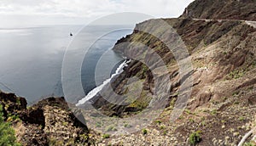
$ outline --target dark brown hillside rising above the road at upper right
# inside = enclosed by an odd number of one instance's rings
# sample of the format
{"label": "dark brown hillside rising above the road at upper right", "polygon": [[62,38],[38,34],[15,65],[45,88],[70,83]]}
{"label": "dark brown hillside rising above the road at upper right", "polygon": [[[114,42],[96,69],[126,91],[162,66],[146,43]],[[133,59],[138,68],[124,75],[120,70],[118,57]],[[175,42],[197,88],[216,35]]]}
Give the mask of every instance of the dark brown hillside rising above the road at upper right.
{"label": "dark brown hillside rising above the road at upper right", "polygon": [[256,20],[255,0],[196,0],[183,18],[214,20]]}

